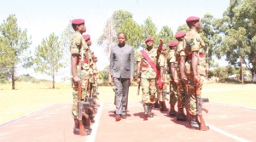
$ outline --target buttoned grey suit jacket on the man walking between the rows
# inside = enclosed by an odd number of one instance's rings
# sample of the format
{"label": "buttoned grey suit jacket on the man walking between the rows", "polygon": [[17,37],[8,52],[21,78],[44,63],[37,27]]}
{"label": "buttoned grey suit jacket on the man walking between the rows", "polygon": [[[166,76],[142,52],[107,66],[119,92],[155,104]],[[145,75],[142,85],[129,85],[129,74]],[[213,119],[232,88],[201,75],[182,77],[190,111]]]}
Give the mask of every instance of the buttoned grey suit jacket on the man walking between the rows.
{"label": "buttoned grey suit jacket on the man walking between the rows", "polygon": [[111,48],[110,74],[115,78],[130,78],[134,76],[134,52],[129,45]]}

